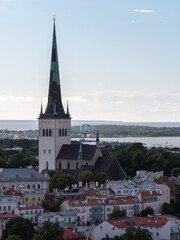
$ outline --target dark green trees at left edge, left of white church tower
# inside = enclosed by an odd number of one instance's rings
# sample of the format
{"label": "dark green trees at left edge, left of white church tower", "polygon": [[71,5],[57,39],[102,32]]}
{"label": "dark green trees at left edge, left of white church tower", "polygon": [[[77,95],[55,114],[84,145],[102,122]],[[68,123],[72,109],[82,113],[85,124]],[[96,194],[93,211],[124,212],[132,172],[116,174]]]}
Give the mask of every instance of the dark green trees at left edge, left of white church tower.
{"label": "dark green trees at left edge, left of white church tower", "polygon": [[[12,150],[21,147],[22,152]],[[36,156],[38,155],[37,140],[27,139],[4,139],[0,140],[0,168],[19,168],[26,166],[37,166]]]}

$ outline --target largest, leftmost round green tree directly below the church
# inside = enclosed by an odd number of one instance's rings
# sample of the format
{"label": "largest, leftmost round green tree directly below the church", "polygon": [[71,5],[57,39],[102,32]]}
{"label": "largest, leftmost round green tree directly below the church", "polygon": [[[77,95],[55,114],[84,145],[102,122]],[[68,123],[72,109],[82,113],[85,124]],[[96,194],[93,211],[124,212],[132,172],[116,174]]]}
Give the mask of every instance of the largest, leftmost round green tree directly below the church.
{"label": "largest, leftmost round green tree directly below the church", "polygon": [[58,189],[64,189],[66,187],[71,188],[73,184],[73,176],[66,172],[57,171],[54,176],[50,180],[50,191],[53,190],[53,188]]}

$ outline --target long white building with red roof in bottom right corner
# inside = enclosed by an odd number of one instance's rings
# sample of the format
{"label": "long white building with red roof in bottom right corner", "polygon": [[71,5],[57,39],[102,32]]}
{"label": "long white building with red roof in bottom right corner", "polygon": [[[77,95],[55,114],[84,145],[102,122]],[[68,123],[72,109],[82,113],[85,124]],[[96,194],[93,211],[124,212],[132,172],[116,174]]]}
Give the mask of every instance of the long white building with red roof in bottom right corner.
{"label": "long white building with red roof in bottom right corner", "polygon": [[180,239],[180,219],[170,215],[157,215],[147,217],[126,217],[110,219],[94,228],[94,240],[101,240],[108,235],[110,238],[121,236],[126,228],[134,226],[147,229],[153,240]]}

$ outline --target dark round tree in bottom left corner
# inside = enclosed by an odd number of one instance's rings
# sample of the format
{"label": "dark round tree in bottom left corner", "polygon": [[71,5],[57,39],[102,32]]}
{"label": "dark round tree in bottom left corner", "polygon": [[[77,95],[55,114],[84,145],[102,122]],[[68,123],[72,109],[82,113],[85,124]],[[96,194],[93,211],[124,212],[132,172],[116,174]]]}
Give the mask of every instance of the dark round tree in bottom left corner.
{"label": "dark round tree in bottom left corner", "polygon": [[22,240],[31,240],[34,232],[34,225],[29,219],[21,217],[12,218],[6,223],[2,239],[5,240],[9,235],[19,235]]}

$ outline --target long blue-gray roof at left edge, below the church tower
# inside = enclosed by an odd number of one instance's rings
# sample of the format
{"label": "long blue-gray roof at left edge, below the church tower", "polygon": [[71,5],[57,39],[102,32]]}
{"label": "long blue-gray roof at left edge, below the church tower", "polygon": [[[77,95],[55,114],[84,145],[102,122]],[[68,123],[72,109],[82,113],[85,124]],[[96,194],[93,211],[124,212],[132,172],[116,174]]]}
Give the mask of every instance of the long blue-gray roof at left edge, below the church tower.
{"label": "long blue-gray roof at left edge, below the church tower", "polygon": [[32,168],[0,168],[0,182],[17,181],[46,181],[48,177]]}

